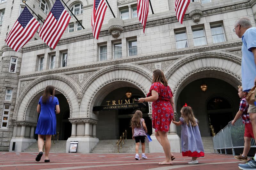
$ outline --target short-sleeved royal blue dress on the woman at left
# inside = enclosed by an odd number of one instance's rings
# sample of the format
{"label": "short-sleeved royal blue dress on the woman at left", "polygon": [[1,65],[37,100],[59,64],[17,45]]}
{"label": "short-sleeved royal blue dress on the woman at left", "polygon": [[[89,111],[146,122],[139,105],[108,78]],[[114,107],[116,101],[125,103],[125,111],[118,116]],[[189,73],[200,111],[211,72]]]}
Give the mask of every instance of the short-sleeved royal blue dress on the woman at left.
{"label": "short-sleeved royal blue dress on the woman at left", "polygon": [[55,107],[59,105],[57,97],[49,97],[46,104],[43,104],[43,96],[40,97],[38,104],[41,105],[41,112],[36,125],[36,134],[55,135],[56,134],[56,113]]}

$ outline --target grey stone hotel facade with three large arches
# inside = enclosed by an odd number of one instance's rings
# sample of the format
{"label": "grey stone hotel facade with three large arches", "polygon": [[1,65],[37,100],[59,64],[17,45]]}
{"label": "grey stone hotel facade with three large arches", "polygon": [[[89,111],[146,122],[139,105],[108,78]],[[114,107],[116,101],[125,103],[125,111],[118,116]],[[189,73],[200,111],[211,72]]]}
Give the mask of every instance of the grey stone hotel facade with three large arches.
{"label": "grey stone hotel facade with three large arches", "polygon": [[[91,152],[99,140],[117,139],[128,130],[136,108],[95,111],[94,107],[113,106],[118,100],[128,103],[128,89],[131,103],[132,98],[144,97],[155,69],[164,71],[176,110],[185,102],[193,108],[201,136],[211,136],[209,125],[218,130],[235,115],[242,42],[233,29],[244,16],[255,26],[255,0],[191,2],[183,25],[175,17],[174,0],[154,0],[145,33],[136,17],[136,0],[109,1],[116,18],[107,9],[99,40],[91,31],[93,1],[65,2],[85,29],[72,17],[55,49],[36,33],[15,52],[4,39],[24,5],[20,0],[0,0],[1,151],[24,151],[36,142],[36,106],[47,85],[55,86],[60,100],[57,130],[60,139],[67,140],[67,152],[70,141],[84,146],[78,152]],[[53,3],[27,0],[43,20]],[[200,89],[202,83],[206,92]],[[150,129],[151,103],[140,109]],[[220,115],[223,119],[218,121]],[[151,133],[150,152],[159,152],[154,129]],[[174,152],[180,152],[179,135],[180,127],[171,124],[168,138]]]}

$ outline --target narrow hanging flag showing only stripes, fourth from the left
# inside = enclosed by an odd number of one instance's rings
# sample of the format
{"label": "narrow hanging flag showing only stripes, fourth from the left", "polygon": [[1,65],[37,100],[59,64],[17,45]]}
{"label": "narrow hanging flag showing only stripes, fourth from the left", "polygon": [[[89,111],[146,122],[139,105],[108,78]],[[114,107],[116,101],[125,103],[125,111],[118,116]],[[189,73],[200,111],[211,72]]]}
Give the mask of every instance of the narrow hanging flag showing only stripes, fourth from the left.
{"label": "narrow hanging flag showing only stripes, fourth from the left", "polygon": [[138,0],[137,4],[137,14],[140,20],[140,23],[143,26],[143,33],[145,33],[145,27],[148,18],[148,0]]}

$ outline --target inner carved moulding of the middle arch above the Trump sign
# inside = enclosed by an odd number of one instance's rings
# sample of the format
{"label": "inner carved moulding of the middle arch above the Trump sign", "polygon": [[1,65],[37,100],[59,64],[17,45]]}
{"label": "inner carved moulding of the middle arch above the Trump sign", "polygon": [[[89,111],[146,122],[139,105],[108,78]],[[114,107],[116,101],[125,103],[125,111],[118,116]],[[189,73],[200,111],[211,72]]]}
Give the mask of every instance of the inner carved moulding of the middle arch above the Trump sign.
{"label": "inner carved moulding of the middle arch above the Trump sign", "polygon": [[[91,103],[92,103],[92,100],[94,99],[95,97],[95,94],[97,94],[97,92],[100,91],[100,89],[102,89],[104,86],[108,85],[109,83],[113,83],[113,82],[116,82],[116,81],[125,81],[125,82],[130,82],[132,83],[133,85],[136,85],[140,88],[140,90],[144,93],[144,94],[147,94],[147,92],[145,91],[145,89],[138,83],[130,80],[130,79],[127,79],[127,78],[115,78],[115,79],[112,79],[112,80],[108,80],[107,82],[103,83],[102,85],[100,85],[92,94],[92,96],[90,97],[90,101],[88,102],[88,105],[87,105],[87,117],[89,117],[89,113],[90,113],[90,107],[91,107]],[[152,81],[152,80],[151,80]],[[149,107],[149,110],[151,112],[151,108]]]}

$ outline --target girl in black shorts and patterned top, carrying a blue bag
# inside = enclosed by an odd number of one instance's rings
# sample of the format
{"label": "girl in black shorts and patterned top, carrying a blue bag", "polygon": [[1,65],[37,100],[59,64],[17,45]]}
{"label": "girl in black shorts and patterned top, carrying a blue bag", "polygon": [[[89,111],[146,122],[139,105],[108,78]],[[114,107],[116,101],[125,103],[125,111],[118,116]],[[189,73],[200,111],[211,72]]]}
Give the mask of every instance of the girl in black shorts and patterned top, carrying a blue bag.
{"label": "girl in black shorts and patterned top, carrying a blue bag", "polygon": [[[132,139],[135,139],[135,160],[140,160],[139,157],[139,146],[141,142],[141,158],[147,159],[145,155],[145,136],[148,132],[147,126],[145,124],[144,119],[142,118],[142,112],[140,110],[136,110],[131,120],[131,128],[132,128]],[[144,130],[145,129],[145,130]]]}

